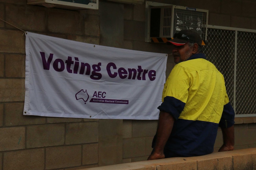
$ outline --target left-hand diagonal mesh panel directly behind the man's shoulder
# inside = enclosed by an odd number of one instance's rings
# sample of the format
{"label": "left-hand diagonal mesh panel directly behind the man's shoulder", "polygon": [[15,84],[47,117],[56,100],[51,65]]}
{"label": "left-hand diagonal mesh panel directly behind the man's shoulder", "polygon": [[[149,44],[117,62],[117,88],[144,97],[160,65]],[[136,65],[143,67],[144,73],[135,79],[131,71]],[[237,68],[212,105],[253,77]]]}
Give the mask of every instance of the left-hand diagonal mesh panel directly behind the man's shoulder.
{"label": "left-hand diagonal mesh panel directly behind the man's shoulder", "polygon": [[227,95],[233,106],[235,31],[214,28],[208,28],[207,31],[207,45],[204,46],[204,54],[223,74]]}

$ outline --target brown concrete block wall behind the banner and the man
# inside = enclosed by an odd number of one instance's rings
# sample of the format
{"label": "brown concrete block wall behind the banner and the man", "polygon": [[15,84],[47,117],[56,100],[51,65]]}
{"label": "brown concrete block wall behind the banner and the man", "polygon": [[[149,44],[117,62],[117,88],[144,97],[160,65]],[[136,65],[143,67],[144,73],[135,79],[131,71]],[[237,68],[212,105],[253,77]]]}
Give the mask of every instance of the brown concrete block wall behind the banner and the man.
{"label": "brown concrete block wall behind the banner and the man", "polygon": [[[256,27],[253,1],[156,2],[208,9],[212,25]],[[232,11],[230,5],[242,10]],[[147,159],[157,120],[88,120],[22,114],[25,95],[22,30],[170,54],[164,44],[145,42],[145,4],[99,0],[99,10],[71,11],[27,5],[26,0],[0,0],[0,19],[6,21],[0,20],[0,170],[75,170]],[[169,56],[166,76],[173,66],[173,57]],[[236,119],[236,149],[256,147],[255,124],[255,118]],[[221,144],[219,131],[215,151]]]}

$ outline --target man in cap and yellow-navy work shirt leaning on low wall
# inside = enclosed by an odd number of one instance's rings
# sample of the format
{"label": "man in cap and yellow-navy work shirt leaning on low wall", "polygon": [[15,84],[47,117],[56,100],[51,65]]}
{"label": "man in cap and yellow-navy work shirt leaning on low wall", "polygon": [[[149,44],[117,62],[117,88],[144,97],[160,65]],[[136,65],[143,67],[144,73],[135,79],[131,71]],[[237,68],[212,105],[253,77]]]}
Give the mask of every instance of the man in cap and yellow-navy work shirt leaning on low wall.
{"label": "man in cap and yellow-navy work shirt leaning on low wall", "polygon": [[175,67],[166,80],[151,159],[200,156],[213,152],[218,126],[223,145],[234,149],[234,110],[223,75],[202,53],[200,35],[181,30],[167,42]]}

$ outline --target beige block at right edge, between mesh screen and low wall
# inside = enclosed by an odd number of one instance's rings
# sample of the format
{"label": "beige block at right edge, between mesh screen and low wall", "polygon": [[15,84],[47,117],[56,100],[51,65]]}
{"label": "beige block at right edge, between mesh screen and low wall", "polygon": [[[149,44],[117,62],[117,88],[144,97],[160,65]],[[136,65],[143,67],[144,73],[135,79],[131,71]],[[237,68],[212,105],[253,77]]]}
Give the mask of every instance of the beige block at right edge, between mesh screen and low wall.
{"label": "beige block at right edge, between mesh screen and low wall", "polygon": [[[238,130],[238,142],[239,145],[250,145],[255,144],[256,141],[256,129],[243,129]],[[236,141],[235,141],[236,142]]]}

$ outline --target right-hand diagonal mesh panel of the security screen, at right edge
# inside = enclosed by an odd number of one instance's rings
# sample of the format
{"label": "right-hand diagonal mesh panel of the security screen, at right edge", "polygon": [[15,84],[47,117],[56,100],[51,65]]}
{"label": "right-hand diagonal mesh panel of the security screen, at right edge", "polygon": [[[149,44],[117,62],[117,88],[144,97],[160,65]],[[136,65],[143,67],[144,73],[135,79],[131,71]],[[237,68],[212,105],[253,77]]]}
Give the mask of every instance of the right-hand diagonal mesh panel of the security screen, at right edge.
{"label": "right-hand diagonal mesh panel of the security screen, at right edge", "polygon": [[256,33],[238,31],[236,67],[236,114],[255,114]]}

